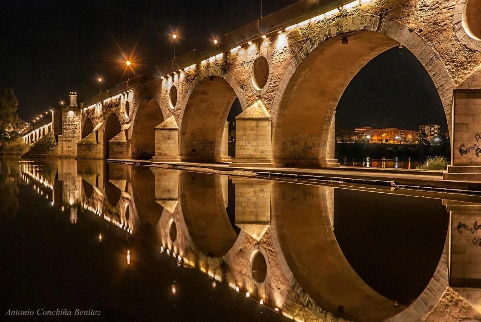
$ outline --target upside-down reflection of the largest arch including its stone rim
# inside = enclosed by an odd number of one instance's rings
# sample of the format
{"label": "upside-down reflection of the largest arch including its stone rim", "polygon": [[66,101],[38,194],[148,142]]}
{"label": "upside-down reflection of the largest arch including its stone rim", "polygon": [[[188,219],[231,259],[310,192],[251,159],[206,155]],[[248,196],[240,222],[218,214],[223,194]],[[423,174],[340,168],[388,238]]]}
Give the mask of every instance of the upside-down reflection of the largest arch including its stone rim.
{"label": "upside-down reflection of the largest arch including its stone rim", "polygon": [[[325,186],[273,186],[269,232],[280,267],[296,294],[311,310],[327,310],[349,321],[421,321],[448,286],[447,234],[442,254],[432,255],[439,260],[437,267],[426,269],[432,277],[424,290],[413,302],[395,306],[392,298],[366,283],[345,256],[334,230],[333,193]],[[303,225],[296,224],[297,213],[303,213]],[[316,254],[321,257],[313,262]],[[405,278],[410,276],[407,273]]]}

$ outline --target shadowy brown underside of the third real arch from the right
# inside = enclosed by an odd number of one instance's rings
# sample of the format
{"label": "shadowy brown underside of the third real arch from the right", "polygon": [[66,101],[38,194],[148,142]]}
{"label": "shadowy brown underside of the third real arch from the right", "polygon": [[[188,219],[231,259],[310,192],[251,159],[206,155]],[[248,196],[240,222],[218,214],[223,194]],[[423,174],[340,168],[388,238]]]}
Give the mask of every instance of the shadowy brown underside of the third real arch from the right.
{"label": "shadowy brown underside of the third real arch from the right", "polygon": [[155,127],[164,122],[159,103],[148,98],[140,103],[132,128],[133,159],[150,159],[155,152]]}

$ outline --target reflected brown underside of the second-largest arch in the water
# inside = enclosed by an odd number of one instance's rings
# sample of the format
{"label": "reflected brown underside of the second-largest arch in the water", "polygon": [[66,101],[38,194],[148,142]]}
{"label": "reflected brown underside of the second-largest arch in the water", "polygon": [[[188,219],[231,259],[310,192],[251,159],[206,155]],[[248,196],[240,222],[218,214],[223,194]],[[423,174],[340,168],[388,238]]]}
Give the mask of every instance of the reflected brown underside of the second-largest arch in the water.
{"label": "reflected brown underside of the second-largest arch in the water", "polygon": [[195,246],[210,257],[227,254],[238,236],[228,218],[219,176],[183,172],[180,185],[182,213]]}

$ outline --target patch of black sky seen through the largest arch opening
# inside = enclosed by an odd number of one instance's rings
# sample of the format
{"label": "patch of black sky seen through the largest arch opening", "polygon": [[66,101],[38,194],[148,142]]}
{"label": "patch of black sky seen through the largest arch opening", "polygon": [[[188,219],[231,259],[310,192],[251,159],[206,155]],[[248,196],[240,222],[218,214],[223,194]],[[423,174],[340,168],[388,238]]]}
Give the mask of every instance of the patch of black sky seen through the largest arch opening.
{"label": "patch of black sky seen through the largest arch opening", "polygon": [[424,66],[405,48],[392,48],[367,63],[336,108],[336,129],[419,130],[433,123],[447,131],[439,94]]}

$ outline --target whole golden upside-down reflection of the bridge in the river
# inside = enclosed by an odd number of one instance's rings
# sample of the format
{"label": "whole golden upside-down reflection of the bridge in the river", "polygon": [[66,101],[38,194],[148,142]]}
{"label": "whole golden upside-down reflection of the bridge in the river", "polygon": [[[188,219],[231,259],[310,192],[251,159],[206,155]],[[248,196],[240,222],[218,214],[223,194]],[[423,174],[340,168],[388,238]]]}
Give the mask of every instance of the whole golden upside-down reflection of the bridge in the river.
{"label": "whole golden upside-down reflection of the bridge in the river", "polygon": [[[22,177],[36,192],[51,193],[55,206],[69,209],[69,215],[79,208],[77,225],[92,211],[137,238],[144,238],[140,226],[154,226],[163,253],[203,272],[211,279],[209,289],[226,283],[233,294],[249,294],[257,305],[262,300],[293,319],[322,321],[317,318],[333,314],[350,321],[420,321],[448,286],[448,234],[452,285],[466,293],[479,282],[481,256],[471,246],[471,231],[481,217],[471,197],[466,203],[462,195],[416,198],[396,195],[413,193],[393,188],[375,193],[106,167],[102,161],[55,162],[48,175],[25,163]],[[120,192],[116,206],[105,187]],[[449,232],[443,205],[452,216]],[[235,213],[229,214],[229,207]],[[104,232],[94,236],[102,236],[103,245]],[[127,248],[124,263],[126,253]],[[474,259],[461,256],[466,254]]]}

